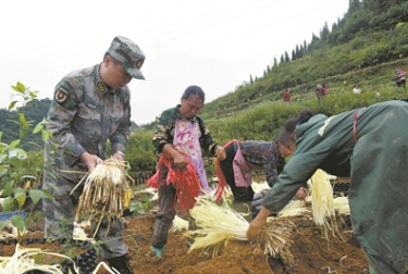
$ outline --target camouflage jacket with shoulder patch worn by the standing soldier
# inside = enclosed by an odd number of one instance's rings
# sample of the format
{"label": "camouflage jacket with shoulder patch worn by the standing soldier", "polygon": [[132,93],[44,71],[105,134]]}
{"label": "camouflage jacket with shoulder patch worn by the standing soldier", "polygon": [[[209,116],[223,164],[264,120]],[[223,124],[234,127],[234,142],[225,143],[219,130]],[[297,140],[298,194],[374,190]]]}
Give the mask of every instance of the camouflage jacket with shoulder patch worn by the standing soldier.
{"label": "camouflage jacket with shoulder patch worn by the standing soldier", "polygon": [[[108,140],[112,153],[126,150],[131,128],[129,89],[104,85],[99,66],[74,71],[55,87],[47,117],[47,129],[54,140],[46,142],[46,155],[54,159],[60,169],[86,169],[79,159],[85,151],[107,159]],[[58,146],[57,157],[51,155],[52,145]]]}

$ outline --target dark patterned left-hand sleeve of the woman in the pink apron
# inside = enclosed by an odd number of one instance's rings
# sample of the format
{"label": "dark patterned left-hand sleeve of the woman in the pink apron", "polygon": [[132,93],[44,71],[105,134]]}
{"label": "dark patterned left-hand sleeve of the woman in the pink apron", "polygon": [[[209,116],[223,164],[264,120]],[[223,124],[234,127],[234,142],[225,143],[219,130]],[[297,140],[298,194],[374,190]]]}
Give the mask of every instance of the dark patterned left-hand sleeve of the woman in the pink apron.
{"label": "dark patterned left-hand sleeve of the woman in the pink apron", "polygon": [[157,119],[156,132],[153,135],[153,146],[158,153],[161,153],[165,144],[173,144],[172,130],[175,125],[175,111],[174,109],[165,110]]}

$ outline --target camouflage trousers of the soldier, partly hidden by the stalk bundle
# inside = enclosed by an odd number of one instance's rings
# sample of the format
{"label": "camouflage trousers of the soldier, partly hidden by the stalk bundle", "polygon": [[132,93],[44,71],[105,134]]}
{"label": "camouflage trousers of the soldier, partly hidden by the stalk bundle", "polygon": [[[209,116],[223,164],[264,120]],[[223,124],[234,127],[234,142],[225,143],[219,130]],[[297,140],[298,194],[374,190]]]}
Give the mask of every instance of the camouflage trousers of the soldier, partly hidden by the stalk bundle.
{"label": "camouflage trousers of the soldier, partly hidden by the stalk bundle", "polygon": [[[83,188],[76,189],[72,195],[70,194],[81,180],[81,176],[83,176],[83,174],[72,176],[75,177],[75,179],[69,179],[58,170],[52,169],[50,173],[49,170],[46,171],[45,169],[42,188],[49,190],[54,198],[54,200],[42,200],[46,238],[72,239],[75,210]],[[123,241],[124,225],[122,220],[118,222],[112,221],[109,231],[107,229],[108,223],[108,220],[104,217],[95,236],[96,241],[102,242],[100,245],[101,257],[103,259],[111,259],[127,254],[128,250]],[[91,222],[91,226],[95,232],[97,224]]]}

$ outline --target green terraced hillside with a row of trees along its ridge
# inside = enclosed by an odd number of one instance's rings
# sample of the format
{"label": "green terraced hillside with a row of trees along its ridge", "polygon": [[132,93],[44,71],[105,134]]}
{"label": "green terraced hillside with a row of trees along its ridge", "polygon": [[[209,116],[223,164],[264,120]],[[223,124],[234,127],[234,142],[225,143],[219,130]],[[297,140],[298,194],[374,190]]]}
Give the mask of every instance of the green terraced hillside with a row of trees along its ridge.
{"label": "green terraced hillside with a row of trees along its ridge", "polygon": [[295,98],[313,94],[317,84],[332,91],[351,90],[355,85],[388,87],[396,67],[408,65],[408,1],[353,1],[345,16],[320,36],[296,45],[292,59],[273,59],[264,74],[202,110],[203,117],[222,117],[261,101],[281,100],[286,88]]}

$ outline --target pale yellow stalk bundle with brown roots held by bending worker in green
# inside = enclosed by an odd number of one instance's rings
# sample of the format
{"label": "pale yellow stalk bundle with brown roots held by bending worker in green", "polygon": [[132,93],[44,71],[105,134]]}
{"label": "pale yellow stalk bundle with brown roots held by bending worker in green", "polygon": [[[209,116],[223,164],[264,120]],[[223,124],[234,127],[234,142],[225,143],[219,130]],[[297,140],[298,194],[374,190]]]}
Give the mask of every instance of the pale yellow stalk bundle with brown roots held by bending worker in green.
{"label": "pale yellow stalk bundle with brown roots held by bending worker in green", "polygon": [[[214,248],[212,256],[217,257],[221,244],[226,245],[228,240],[248,240],[246,236],[248,222],[226,203],[220,205],[209,199],[199,197],[189,213],[195,219],[197,226],[197,229],[187,231],[184,234],[194,239],[189,251],[202,249],[203,252],[208,253],[211,248]],[[264,254],[281,258],[292,265],[292,254],[288,247],[292,244],[290,236],[294,227],[295,224],[288,220],[275,219],[269,221],[262,231],[260,240],[255,244],[255,250],[261,248]],[[283,257],[281,257],[283,254],[281,252],[284,252]]]}

